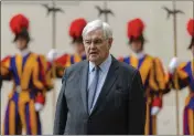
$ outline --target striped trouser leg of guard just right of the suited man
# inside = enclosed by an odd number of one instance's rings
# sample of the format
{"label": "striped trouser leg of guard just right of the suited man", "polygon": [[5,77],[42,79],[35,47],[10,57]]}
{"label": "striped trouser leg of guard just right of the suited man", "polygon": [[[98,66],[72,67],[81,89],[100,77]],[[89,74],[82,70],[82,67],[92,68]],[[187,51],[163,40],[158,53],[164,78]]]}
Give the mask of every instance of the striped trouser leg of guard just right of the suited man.
{"label": "striped trouser leg of guard just right of the suited man", "polygon": [[152,105],[147,103],[144,135],[157,135],[157,116],[151,115],[151,107]]}

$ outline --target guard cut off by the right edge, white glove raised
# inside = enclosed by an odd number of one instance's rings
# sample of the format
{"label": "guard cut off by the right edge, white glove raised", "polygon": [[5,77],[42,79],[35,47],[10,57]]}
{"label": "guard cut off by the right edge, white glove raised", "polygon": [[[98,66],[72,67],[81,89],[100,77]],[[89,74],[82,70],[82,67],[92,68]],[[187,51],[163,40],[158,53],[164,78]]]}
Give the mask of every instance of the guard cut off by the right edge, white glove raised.
{"label": "guard cut off by the right edge, white glove raised", "polygon": [[[188,50],[194,57],[194,19],[187,22],[187,32],[191,35]],[[169,72],[175,90],[188,87],[183,113],[183,132],[184,135],[194,135],[194,60],[180,62],[177,57],[173,57],[169,64]]]}

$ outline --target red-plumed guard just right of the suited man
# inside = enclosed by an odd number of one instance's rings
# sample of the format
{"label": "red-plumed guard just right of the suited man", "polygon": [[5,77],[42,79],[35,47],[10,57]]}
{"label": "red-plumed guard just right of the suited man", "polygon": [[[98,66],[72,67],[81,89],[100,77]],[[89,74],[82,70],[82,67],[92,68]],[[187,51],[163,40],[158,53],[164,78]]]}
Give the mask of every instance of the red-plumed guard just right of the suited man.
{"label": "red-plumed guard just right of the suited man", "polygon": [[[147,96],[146,135],[157,135],[157,115],[162,108],[162,96],[169,92],[168,74],[159,57],[144,52],[144,23],[137,18],[128,22],[129,46],[131,55],[120,57],[120,61],[140,71]],[[138,108],[138,107],[137,107]]]}

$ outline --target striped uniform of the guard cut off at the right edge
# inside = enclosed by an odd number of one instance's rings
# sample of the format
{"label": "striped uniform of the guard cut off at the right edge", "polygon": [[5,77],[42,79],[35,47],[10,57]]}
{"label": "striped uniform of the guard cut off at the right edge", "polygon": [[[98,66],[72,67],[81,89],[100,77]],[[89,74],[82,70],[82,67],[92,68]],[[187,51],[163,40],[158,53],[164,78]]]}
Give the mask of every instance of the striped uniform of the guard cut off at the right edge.
{"label": "striped uniform of the guard cut off at the right edge", "polygon": [[188,87],[183,114],[184,135],[194,135],[194,61],[181,63],[171,76],[172,86],[176,90]]}

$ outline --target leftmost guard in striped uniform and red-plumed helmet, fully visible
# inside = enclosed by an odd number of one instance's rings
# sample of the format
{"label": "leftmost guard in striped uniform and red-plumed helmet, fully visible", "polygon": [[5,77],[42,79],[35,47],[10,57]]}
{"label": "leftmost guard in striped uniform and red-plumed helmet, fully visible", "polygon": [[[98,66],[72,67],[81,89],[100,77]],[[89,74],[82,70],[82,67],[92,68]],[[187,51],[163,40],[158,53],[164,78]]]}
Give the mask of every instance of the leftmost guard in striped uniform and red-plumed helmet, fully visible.
{"label": "leftmost guard in striped uniform and red-plumed helmet, fully visible", "polygon": [[29,49],[29,19],[23,14],[15,14],[10,20],[19,53],[4,57],[0,65],[0,76],[10,76],[13,82],[8,96],[3,135],[41,135],[40,112],[45,105],[46,91],[53,87],[46,73],[46,57]]}

